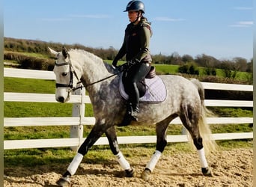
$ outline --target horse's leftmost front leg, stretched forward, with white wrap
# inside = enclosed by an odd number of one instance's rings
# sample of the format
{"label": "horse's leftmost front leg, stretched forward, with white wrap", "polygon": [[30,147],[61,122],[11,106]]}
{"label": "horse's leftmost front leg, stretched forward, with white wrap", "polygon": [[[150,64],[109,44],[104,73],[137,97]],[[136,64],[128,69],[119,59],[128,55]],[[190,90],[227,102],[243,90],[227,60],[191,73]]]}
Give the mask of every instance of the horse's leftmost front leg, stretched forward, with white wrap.
{"label": "horse's leftmost front leg, stretched forward, with white wrap", "polygon": [[82,162],[83,157],[90,147],[94,145],[94,143],[106,132],[105,125],[103,124],[95,124],[88,137],[82,143],[81,147],[79,147],[78,153],[74,156],[72,162],[67,168],[67,171],[62,175],[62,177],[56,182],[58,186],[68,186],[70,184],[70,177],[76,173],[77,168]]}

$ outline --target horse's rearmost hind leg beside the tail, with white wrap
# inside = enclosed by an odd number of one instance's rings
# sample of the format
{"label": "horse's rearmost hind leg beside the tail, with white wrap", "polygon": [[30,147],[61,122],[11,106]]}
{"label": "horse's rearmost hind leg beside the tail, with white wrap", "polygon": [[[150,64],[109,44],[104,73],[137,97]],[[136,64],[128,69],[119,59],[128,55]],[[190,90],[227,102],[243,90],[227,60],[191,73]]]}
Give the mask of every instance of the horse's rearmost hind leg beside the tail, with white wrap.
{"label": "horse's rearmost hind leg beside the tail, with white wrap", "polygon": [[204,153],[203,138],[201,138],[198,126],[199,118],[200,114],[198,114],[196,111],[189,110],[189,108],[184,112],[184,114],[180,114],[180,120],[189,131],[193,143],[198,150],[202,173],[205,176],[213,176],[210,168],[208,167],[207,159]]}

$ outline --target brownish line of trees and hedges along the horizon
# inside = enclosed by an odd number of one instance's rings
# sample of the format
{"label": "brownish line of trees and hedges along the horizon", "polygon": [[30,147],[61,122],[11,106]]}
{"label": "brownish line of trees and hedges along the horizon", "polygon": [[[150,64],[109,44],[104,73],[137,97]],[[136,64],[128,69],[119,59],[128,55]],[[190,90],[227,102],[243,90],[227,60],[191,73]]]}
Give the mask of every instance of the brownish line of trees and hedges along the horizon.
{"label": "brownish line of trees and hedges along the horizon", "polygon": [[[66,46],[67,49],[84,49],[88,52],[94,53],[94,55],[99,56],[105,60],[113,60],[115,55],[118,53],[118,49],[110,46],[109,49],[103,48],[91,48],[88,46],[82,46],[81,44],[63,44],[63,43],[53,43],[53,42],[44,42],[40,40],[23,40],[15,39],[10,37],[4,37],[4,50],[12,52],[33,52],[49,55],[49,47],[57,51],[61,51],[62,46]],[[50,55],[49,55],[50,56]],[[177,52],[173,52],[171,55],[152,55],[153,63],[155,64],[177,64],[180,68],[180,73],[189,73],[193,71],[197,74],[196,67],[206,67],[208,75],[213,75],[216,68],[226,70],[227,76],[231,77],[232,72],[249,72],[252,73],[252,64],[253,60],[247,61],[246,58],[233,58],[227,60],[218,60],[210,55],[197,55],[193,58],[191,55],[182,55],[180,56]],[[125,59],[122,59],[125,60]],[[185,72],[183,72],[185,71]],[[230,75],[229,75],[230,74]]]}

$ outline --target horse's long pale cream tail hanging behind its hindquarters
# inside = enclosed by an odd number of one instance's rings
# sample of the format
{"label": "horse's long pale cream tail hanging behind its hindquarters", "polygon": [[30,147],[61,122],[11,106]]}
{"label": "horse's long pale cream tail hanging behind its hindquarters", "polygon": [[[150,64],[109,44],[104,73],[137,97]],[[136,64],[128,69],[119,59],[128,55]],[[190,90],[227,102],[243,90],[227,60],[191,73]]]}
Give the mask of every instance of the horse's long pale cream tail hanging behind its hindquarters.
{"label": "horse's long pale cream tail hanging behind its hindquarters", "polygon": [[213,117],[215,115],[204,105],[204,88],[201,82],[199,82],[198,79],[191,79],[190,81],[195,85],[195,88],[198,89],[198,94],[201,99],[201,117],[199,119],[198,126],[203,138],[204,150],[206,153],[210,153],[211,151],[216,150],[217,145],[213,140],[210,126],[207,124],[207,117]]}

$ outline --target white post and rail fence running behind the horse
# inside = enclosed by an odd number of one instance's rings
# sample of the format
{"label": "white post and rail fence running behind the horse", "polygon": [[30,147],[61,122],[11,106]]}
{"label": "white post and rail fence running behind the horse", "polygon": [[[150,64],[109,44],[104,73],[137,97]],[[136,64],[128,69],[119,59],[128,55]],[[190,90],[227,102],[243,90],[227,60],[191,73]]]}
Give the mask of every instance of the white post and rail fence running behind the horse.
{"label": "white post and rail fence running behind the horse", "polygon": [[[4,77],[16,77],[27,79],[55,80],[52,71],[22,70],[4,68]],[[253,91],[252,85],[233,85],[202,82],[204,89],[228,90],[228,91]],[[4,92],[4,102],[56,102],[55,94],[46,93],[10,93]],[[45,147],[73,147],[76,150],[85,140],[83,126],[94,125],[94,117],[85,117],[85,103],[91,103],[89,96],[85,95],[85,89],[77,90],[76,95],[70,96],[73,103],[72,117],[4,117],[4,127],[10,126],[71,126],[70,138],[29,139],[29,140],[5,140],[4,150],[23,148]],[[253,107],[253,101],[246,100],[214,100],[205,99],[206,106],[221,107]],[[209,124],[243,124],[253,123],[252,117],[207,117]],[[171,124],[181,124],[177,117]],[[216,133],[215,140],[234,140],[253,138],[253,132]],[[186,135],[167,135],[168,142],[186,142]],[[119,136],[119,144],[147,144],[156,143],[155,135],[147,136]],[[109,144],[106,137],[100,138],[95,145]]]}

